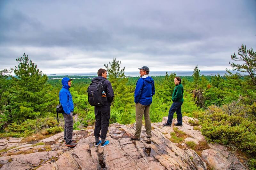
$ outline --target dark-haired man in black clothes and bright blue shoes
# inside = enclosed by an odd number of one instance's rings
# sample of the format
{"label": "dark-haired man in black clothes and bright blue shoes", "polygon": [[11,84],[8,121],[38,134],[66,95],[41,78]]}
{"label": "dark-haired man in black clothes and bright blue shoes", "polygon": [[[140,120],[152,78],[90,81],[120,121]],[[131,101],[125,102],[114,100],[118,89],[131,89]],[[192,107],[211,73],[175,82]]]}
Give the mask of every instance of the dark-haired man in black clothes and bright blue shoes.
{"label": "dark-haired man in black clothes and bright blue shoes", "polygon": [[[94,146],[100,145],[100,147],[105,147],[106,145],[109,144],[109,141],[105,139],[107,138],[108,125],[109,125],[109,119],[110,119],[110,103],[114,99],[114,92],[113,92],[110,81],[107,80],[107,70],[100,68],[98,70],[98,77],[93,78],[92,83],[95,81],[100,82],[100,84],[97,87],[102,88],[102,92],[100,91],[102,94],[100,94],[100,96],[98,95],[100,100],[99,99],[94,99],[94,100],[100,101],[102,103],[100,103],[99,106],[97,106],[97,103],[96,105],[94,105],[94,114],[95,114]],[[90,86],[88,87],[88,96],[90,93],[89,89],[90,89]],[[97,94],[95,96],[97,96]],[[90,104],[91,103],[92,102],[90,102]],[[101,130],[101,133],[100,133],[100,130]],[[101,140],[99,140],[99,137],[101,138]]]}

